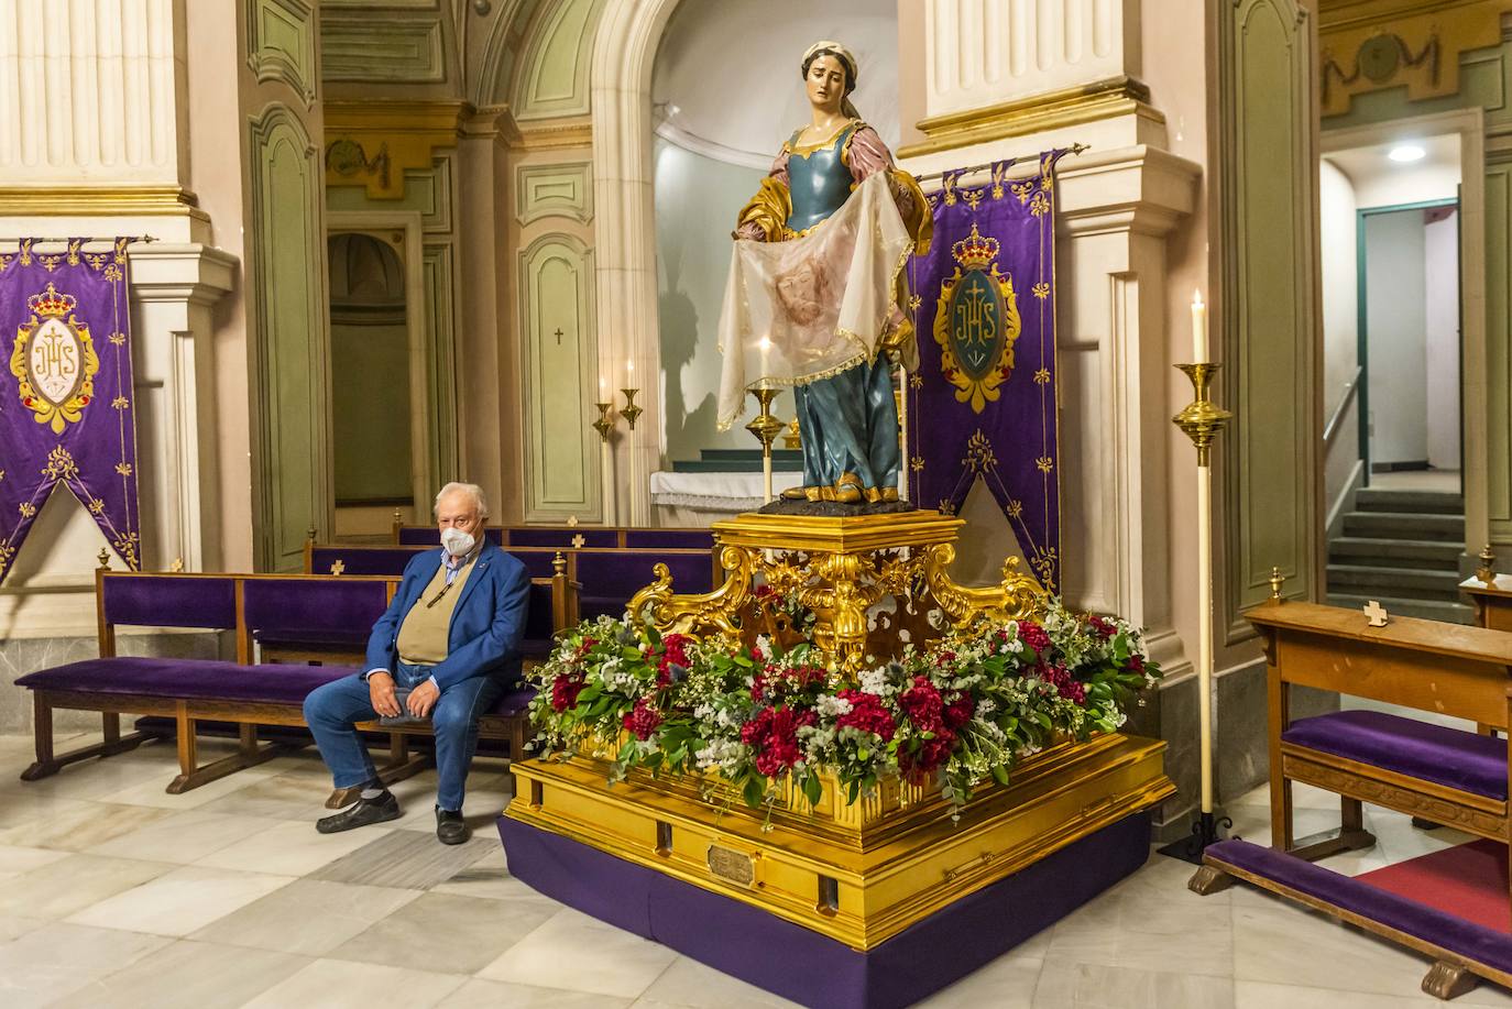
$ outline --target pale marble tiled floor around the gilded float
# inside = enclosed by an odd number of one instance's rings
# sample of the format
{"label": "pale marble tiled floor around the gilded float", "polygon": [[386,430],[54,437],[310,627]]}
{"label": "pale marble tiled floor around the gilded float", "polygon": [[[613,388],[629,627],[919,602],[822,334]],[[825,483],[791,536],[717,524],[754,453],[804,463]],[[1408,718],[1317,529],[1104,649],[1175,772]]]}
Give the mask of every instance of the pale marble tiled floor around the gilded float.
{"label": "pale marble tiled floor around the gilded float", "polygon": [[[203,759],[221,744],[207,741]],[[423,1009],[786,1006],[750,985],[600,924],[510,877],[490,826],[508,800],[479,761],[478,837],[435,843],[434,776],[395,788],[402,820],[322,837],[328,779],[313,750],[168,796],[174,752],[154,744],[18,781],[30,740],[0,735],[0,1006]],[[1299,832],[1337,802],[1299,790]],[[1264,843],[1266,796],[1231,811]],[[1371,809],[1365,871],[1467,840]],[[1427,962],[1267,894],[1185,889],[1190,867],[1152,856],[1132,877],[925,1004],[1104,1009],[1397,1009]],[[733,938],[733,936],[732,936]],[[1509,1006],[1479,988],[1458,1006]]]}

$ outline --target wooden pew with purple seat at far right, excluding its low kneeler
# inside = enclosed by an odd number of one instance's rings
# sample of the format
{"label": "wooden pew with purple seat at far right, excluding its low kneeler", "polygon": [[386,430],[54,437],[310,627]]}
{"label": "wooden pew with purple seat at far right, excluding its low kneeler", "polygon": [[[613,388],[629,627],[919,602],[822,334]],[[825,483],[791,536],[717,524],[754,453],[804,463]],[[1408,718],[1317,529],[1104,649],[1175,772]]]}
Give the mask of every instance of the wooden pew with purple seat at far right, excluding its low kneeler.
{"label": "wooden pew with purple seat at far right, excluding its low kneeler", "polygon": [[[1290,717],[1291,687],[1303,685],[1504,731],[1512,634],[1412,617],[1370,628],[1355,610],[1306,602],[1267,602],[1244,616],[1269,663],[1272,847],[1309,859],[1368,847],[1361,802],[1512,840],[1503,740],[1379,711]],[[1297,841],[1294,781],[1341,796],[1335,837]]]}

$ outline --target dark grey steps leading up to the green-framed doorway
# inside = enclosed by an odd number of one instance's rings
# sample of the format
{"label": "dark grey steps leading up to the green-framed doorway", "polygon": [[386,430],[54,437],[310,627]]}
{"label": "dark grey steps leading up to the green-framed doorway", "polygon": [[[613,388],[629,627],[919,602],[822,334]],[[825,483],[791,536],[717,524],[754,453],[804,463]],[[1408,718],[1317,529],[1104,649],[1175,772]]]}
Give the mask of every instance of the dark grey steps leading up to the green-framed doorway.
{"label": "dark grey steps leading up to the green-framed doorway", "polygon": [[1365,487],[1355,508],[1344,516],[1343,536],[1328,545],[1329,604],[1359,608],[1379,599],[1405,617],[1471,622],[1474,611],[1458,588],[1464,498]]}

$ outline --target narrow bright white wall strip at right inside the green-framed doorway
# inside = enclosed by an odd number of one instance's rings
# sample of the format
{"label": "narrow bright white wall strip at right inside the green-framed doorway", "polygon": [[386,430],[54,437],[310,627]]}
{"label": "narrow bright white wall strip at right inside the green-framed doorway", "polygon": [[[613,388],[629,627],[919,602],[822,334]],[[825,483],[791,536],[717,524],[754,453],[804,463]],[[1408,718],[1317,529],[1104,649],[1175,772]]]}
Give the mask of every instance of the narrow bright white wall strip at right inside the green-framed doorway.
{"label": "narrow bright white wall strip at right inside the green-framed doorway", "polygon": [[1427,460],[1459,469],[1459,213],[1424,230]]}

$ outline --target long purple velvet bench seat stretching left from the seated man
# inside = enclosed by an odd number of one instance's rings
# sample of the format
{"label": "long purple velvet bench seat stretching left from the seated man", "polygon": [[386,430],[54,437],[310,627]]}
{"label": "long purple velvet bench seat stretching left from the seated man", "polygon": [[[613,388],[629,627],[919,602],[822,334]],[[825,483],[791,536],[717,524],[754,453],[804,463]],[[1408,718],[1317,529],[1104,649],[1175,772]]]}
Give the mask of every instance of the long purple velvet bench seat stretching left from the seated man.
{"label": "long purple velvet bench seat stretching left from the seated man", "polygon": [[113,657],[54,666],[15,682],[33,690],[299,705],[316,687],[355,673],[355,669],[339,666],[237,666],[204,658]]}

